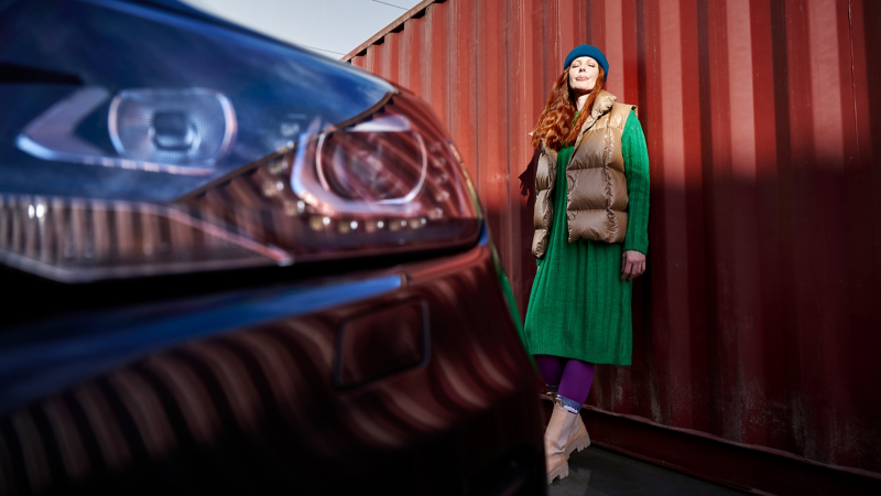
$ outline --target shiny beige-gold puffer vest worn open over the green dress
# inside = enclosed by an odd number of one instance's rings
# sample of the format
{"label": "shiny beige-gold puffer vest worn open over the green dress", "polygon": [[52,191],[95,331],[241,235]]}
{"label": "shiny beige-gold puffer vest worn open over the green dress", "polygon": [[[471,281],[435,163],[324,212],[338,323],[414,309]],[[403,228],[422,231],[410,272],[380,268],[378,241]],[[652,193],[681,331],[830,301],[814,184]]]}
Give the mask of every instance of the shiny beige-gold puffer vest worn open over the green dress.
{"label": "shiny beige-gold puffer vest worn open over the green dress", "polygon": [[[569,242],[590,239],[621,242],[627,234],[627,177],[621,153],[621,134],[632,105],[616,104],[617,98],[600,91],[590,117],[575,141],[572,160],[566,164],[566,220]],[[532,254],[544,257],[554,205],[551,201],[556,182],[557,152],[542,143],[535,171],[535,235]]]}

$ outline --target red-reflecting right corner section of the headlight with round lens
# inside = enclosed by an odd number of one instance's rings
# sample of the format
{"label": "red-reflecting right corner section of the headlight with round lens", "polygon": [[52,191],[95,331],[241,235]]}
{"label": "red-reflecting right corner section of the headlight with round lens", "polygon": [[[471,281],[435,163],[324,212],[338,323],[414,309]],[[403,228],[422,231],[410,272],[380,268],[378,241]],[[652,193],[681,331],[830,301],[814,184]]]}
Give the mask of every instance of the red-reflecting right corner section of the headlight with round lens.
{"label": "red-reflecting right corner section of the headlight with round lens", "polygon": [[466,246],[480,229],[461,158],[406,93],[349,126],[316,121],[291,150],[178,202],[295,262]]}

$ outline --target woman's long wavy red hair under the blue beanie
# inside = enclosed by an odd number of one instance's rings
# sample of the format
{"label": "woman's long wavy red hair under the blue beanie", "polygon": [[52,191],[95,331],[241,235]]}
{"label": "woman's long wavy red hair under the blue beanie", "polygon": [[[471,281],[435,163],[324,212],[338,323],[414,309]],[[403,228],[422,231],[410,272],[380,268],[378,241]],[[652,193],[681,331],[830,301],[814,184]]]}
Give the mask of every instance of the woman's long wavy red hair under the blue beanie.
{"label": "woman's long wavy red hair under the blue beanie", "polygon": [[557,77],[554,87],[551,88],[551,95],[547,97],[547,104],[544,106],[542,115],[539,117],[539,123],[532,131],[532,145],[536,149],[542,145],[544,140],[552,150],[559,151],[565,145],[575,142],[578,138],[578,131],[584,126],[587,117],[594,108],[594,101],[597,95],[606,87],[606,72],[602,67],[597,67],[599,75],[597,76],[597,84],[585,101],[583,112],[578,114],[578,121],[573,126],[575,112],[578,110],[576,97],[569,87],[569,68],[566,67],[563,74]]}

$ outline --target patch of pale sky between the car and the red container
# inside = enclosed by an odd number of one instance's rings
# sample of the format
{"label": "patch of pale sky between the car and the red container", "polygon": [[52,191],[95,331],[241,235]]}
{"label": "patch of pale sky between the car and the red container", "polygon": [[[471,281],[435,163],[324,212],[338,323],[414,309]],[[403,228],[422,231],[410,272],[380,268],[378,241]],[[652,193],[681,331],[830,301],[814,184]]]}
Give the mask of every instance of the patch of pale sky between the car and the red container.
{"label": "patch of pale sky between the car and the red container", "polygon": [[335,60],[420,3],[420,0],[182,1]]}

